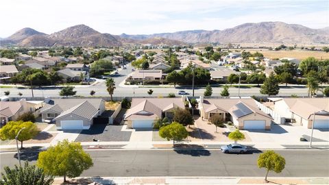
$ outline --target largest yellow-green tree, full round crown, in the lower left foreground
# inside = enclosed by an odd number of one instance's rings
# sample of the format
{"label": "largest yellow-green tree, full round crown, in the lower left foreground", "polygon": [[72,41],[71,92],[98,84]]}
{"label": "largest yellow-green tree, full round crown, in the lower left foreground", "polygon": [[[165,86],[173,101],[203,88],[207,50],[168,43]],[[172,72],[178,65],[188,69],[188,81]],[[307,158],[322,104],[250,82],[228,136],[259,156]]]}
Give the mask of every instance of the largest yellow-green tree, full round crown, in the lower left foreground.
{"label": "largest yellow-green tree, full round crown, in the lower left foreground", "polygon": [[47,151],[39,153],[37,166],[44,169],[45,173],[56,176],[78,177],[82,171],[93,167],[93,160],[86,153],[80,143],[63,140],[51,146]]}

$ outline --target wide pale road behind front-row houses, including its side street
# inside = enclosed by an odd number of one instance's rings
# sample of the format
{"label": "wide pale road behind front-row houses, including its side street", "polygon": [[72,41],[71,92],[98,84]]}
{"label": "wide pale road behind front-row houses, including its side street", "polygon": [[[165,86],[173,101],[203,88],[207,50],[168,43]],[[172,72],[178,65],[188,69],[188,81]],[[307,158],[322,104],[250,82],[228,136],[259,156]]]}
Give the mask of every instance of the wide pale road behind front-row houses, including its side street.
{"label": "wide pale road behind front-row houses, including its side street", "polygon": [[[112,75],[111,77],[114,79],[114,82],[116,84],[116,89],[114,90],[114,97],[149,97],[147,94],[147,91],[149,89],[154,90],[154,93],[151,96],[154,97],[166,97],[169,93],[175,93],[175,95],[178,95],[178,90],[185,90],[187,93],[192,96],[192,88],[191,87],[157,87],[157,86],[152,86],[152,87],[121,87],[119,84],[125,80],[127,75],[132,73],[132,66],[129,64],[127,65],[127,69],[123,69],[119,71],[119,74],[117,75]],[[249,97],[252,95],[256,96],[266,96],[266,95],[261,95],[259,92],[258,87],[246,87],[246,86],[241,86],[240,88],[240,95],[242,97]],[[1,88],[1,92],[4,92],[6,90],[10,91],[10,97],[18,97],[18,93],[23,93],[22,97],[32,97],[32,92],[30,89],[27,88]],[[90,90],[95,90],[96,94],[95,96],[100,96],[100,97],[106,97],[108,96],[108,91],[106,90],[105,82],[103,79],[100,80],[97,84],[93,86],[79,86],[74,88],[75,91],[77,91],[78,96],[84,96],[88,97],[90,96]],[[204,95],[204,90],[205,88],[195,88],[195,96],[200,96]],[[212,87],[212,96],[220,96],[221,90],[223,88],[221,87]],[[59,92],[60,88],[35,88],[34,90],[34,97],[60,97]],[[229,88],[229,93],[231,97],[236,97],[239,95],[239,88],[237,87],[230,87]],[[308,95],[308,89],[304,87],[284,87],[280,86],[280,92],[278,96],[285,96],[285,97],[290,97],[292,94],[295,94],[299,97],[306,97]]]}

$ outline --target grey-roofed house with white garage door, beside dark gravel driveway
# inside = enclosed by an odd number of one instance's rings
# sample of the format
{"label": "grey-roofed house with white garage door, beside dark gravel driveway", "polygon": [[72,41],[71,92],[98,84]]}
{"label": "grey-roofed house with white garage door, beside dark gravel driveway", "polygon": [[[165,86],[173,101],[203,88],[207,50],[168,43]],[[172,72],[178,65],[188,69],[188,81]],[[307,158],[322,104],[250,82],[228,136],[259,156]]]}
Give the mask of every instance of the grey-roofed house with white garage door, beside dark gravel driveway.
{"label": "grey-roofed house with white garage door, beside dark gravel driveway", "polygon": [[56,122],[57,130],[88,130],[105,110],[103,99],[49,99],[40,110],[42,121]]}

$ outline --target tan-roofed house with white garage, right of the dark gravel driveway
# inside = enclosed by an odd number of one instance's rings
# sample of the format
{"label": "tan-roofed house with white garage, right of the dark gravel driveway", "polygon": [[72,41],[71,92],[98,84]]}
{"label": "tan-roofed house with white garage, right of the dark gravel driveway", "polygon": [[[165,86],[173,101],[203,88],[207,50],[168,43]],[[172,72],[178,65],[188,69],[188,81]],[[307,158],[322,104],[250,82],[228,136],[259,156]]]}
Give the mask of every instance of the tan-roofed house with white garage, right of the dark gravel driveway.
{"label": "tan-roofed house with white garage, right of the dark gravel driveway", "polygon": [[176,108],[185,108],[186,97],[175,98],[132,98],[132,106],[125,114],[127,127],[151,128],[154,121],[173,118]]}

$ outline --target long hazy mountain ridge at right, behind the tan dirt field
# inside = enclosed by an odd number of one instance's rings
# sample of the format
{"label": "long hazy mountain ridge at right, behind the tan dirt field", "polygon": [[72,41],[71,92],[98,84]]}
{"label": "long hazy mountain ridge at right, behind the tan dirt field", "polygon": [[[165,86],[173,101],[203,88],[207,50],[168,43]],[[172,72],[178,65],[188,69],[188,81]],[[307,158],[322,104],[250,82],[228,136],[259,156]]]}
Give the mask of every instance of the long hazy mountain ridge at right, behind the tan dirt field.
{"label": "long hazy mountain ridge at right, behind the tan dirt field", "polygon": [[282,42],[287,44],[329,43],[329,28],[311,29],[282,22],[245,23],[223,30],[191,30],[151,35],[125,35],[125,38],[168,38],[189,43]]}

